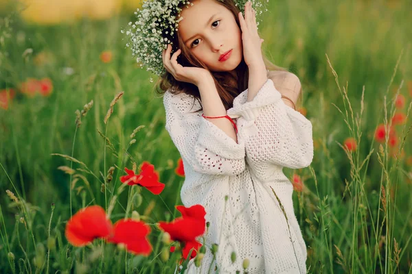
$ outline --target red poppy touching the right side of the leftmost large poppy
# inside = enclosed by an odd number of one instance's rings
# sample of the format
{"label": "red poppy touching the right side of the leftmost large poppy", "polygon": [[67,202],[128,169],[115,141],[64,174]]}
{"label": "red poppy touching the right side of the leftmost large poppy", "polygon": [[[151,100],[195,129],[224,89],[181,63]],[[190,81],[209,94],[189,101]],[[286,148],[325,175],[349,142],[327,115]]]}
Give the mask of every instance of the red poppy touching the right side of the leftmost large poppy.
{"label": "red poppy touching the right side of the leftmost large poppy", "polygon": [[113,237],[107,242],[122,243],[130,253],[149,256],[152,252],[152,245],[146,238],[149,233],[150,227],[143,221],[120,219],[113,226]]}

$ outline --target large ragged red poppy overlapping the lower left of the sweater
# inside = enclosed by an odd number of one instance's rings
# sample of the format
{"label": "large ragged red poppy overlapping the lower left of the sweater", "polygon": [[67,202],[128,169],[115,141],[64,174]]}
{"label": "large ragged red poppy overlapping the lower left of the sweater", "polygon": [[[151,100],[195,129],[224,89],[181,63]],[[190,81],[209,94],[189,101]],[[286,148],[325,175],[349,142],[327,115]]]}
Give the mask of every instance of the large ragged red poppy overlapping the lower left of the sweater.
{"label": "large ragged red poppy overlapping the lower left of the sweater", "polygon": [[[190,258],[194,258],[198,249],[202,246],[196,238],[205,233],[205,208],[197,204],[190,208],[176,206],[176,209],[181,212],[182,216],[174,219],[171,223],[160,221],[159,227],[170,234],[171,240],[181,242],[181,245],[183,245],[182,255],[185,260],[189,255]],[[189,254],[192,248],[194,251]],[[173,252],[174,249],[170,249],[170,251]]]}

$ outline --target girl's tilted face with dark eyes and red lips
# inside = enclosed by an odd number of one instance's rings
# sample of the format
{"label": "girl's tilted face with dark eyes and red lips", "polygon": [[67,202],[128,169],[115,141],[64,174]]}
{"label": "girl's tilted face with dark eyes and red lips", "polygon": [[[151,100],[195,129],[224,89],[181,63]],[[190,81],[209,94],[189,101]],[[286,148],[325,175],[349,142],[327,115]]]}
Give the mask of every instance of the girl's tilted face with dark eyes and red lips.
{"label": "girl's tilted face with dark eyes and red lips", "polygon": [[[194,0],[183,7],[179,36],[210,71],[233,71],[242,61],[242,31],[233,14],[214,0]],[[219,61],[231,51],[230,58]]]}

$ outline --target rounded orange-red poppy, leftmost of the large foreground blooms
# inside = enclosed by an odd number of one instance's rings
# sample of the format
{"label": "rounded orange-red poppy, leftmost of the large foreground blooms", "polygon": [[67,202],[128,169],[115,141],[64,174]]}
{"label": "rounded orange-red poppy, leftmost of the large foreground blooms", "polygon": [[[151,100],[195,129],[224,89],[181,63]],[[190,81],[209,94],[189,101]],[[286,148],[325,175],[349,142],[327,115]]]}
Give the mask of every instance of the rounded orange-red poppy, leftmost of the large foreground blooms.
{"label": "rounded orange-red poppy, leftmost of the large foreground blooms", "polygon": [[65,235],[75,247],[82,247],[96,238],[106,238],[112,233],[111,221],[100,206],[82,208],[67,222]]}

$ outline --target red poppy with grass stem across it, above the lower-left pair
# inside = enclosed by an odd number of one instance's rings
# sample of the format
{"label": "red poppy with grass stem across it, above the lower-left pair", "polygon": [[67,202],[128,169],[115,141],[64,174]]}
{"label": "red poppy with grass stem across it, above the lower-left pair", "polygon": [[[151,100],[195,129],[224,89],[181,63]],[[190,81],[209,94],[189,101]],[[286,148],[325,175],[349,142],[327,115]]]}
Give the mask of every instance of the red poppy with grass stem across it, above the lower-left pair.
{"label": "red poppy with grass stem across it, above the lower-left pair", "polygon": [[144,162],[141,166],[141,173],[135,174],[132,170],[124,168],[128,175],[120,177],[120,182],[127,183],[129,186],[135,184],[144,186],[155,195],[159,195],[165,188],[165,184],[158,182],[159,173],[155,171],[155,166],[149,162]]}

